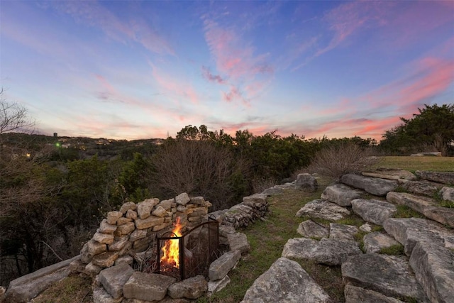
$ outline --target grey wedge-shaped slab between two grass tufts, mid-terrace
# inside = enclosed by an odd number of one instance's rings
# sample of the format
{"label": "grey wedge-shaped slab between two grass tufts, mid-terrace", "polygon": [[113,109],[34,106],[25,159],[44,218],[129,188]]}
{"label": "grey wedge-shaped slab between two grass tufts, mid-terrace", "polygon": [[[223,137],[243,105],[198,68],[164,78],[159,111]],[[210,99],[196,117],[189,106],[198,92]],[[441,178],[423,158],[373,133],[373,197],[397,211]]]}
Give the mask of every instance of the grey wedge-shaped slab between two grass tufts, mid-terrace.
{"label": "grey wedge-shaped slab between two grass tufts, mid-terrace", "polygon": [[352,209],[365,221],[377,225],[383,225],[385,220],[397,212],[393,204],[375,199],[355,199],[352,201]]}

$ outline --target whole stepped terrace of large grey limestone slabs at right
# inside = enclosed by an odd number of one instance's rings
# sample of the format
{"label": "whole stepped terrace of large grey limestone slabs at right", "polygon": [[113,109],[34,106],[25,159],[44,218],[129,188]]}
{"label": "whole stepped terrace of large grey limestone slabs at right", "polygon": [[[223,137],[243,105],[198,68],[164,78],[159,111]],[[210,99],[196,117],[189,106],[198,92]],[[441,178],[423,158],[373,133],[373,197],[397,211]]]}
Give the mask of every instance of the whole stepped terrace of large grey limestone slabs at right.
{"label": "whole stepped terrace of large grey limestone slabs at right", "polygon": [[[243,303],[335,302],[294,260],[341,266],[347,303],[454,302],[454,209],[433,199],[454,202],[453,180],[454,172],[401,170],[343,176],[298,211],[302,237],[287,241]],[[395,218],[399,205],[421,218]],[[350,212],[364,224],[326,224]],[[380,253],[399,246],[404,254]]]}

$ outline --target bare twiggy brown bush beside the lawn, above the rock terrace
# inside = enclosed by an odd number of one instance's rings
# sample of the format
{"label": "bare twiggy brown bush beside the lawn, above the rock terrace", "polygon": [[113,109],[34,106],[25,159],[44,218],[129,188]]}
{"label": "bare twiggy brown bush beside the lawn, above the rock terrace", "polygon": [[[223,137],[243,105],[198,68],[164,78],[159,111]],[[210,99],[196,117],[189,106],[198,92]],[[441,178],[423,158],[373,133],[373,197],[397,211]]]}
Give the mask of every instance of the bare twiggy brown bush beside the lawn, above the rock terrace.
{"label": "bare twiggy brown bush beside the lawn, above the rock terrace", "polygon": [[370,149],[355,143],[328,145],[319,151],[307,170],[338,180],[350,172],[363,172],[375,165],[377,158],[372,157]]}

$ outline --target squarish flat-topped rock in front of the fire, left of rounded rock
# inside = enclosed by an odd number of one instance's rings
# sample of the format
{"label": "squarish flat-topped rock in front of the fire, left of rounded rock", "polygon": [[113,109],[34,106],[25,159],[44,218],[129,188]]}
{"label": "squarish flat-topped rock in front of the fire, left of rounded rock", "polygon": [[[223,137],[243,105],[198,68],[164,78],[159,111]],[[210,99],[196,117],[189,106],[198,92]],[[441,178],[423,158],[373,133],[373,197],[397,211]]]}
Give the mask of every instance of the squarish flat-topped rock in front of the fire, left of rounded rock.
{"label": "squarish flat-topped rock in front of the fire, left of rounded rock", "polygon": [[164,299],[167,289],[175,283],[175,277],[133,272],[123,287],[124,297],[145,301],[160,301]]}

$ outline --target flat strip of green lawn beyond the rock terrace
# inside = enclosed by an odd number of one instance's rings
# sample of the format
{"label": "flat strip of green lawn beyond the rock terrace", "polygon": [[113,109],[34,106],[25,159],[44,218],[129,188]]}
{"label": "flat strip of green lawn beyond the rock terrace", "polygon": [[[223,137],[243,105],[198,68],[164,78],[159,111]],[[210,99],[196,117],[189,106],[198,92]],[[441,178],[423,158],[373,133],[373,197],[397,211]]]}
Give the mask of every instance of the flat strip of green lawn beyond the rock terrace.
{"label": "flat strip of green lawn beyond the rock terrace", "polygon": [[433,170],[437,172],[454,171],[454,157],[381,157],[377,167],[400,168],[416,172],[416,170]]}

